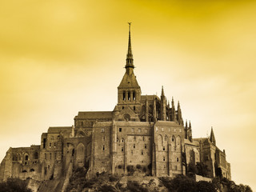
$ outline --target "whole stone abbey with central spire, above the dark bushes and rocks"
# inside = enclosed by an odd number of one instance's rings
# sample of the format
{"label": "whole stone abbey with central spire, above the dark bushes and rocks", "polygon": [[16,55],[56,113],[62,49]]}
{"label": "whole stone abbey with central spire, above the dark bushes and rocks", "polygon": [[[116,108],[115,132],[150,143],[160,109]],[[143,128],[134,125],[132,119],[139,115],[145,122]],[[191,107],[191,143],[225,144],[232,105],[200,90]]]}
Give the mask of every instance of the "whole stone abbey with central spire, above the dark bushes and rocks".
{"label": "whole stone abbey with central spire, above the dark bushes and rocks", "polygon": [[167,102],[164,90],[142,95],[134,75],[129,28],[126,71],[118,86],[113,111],[78,112],[74,126],[50,127],[41,145],[12,148],[0,166],[0,180],[33,178],[37,181],[68,178],[72,170],[86,167],[86,177],[97,173],[170,176],[187,174],[198,162],[207,166],[207,177],[230,176],[225,150],[210,138],[193,138],[181,106]]}

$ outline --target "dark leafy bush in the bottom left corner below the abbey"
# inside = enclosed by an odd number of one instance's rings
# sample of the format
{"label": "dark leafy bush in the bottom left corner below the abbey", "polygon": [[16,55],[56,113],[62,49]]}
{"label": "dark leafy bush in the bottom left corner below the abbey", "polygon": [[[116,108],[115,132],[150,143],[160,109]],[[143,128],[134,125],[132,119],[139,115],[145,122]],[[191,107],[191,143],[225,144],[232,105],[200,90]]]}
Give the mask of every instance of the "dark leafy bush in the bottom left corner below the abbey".
{"label": "dark leafy bush in the bottom left corner below the abbey", "polygon": [[27,188],[27,182],[19,178],[8,178],[6,182],[0,182],[0,192],[32,192]]}

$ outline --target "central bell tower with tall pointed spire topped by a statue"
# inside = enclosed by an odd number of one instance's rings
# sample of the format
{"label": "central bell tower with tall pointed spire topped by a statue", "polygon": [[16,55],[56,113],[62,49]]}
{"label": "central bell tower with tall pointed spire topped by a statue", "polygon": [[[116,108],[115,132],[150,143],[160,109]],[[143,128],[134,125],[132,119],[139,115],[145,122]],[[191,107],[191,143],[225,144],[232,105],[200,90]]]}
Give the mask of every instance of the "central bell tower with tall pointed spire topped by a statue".
{"label": "central bell tower with tall pointed spire topped by a statue", "polygon": [[141,87],[138,86],[137,79],[134,75],[134,58],[131,51],[130,24],[129,24],[129,40],[128,51],[126,54],[126,73],[122,77],[122,81],[118,86],[118,106],[130,107],[135,113],[139,113],[141,100]]}

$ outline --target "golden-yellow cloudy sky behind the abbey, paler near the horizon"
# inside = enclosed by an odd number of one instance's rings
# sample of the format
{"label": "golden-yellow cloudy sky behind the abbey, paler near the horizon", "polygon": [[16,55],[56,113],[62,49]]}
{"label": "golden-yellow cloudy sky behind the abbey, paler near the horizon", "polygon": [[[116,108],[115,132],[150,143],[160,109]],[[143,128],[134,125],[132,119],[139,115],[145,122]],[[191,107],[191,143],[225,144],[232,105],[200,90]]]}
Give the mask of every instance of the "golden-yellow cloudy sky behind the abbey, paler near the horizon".
{"label": "golden-yellow cloudy sky behind the abbey, paler near the horizon", "polygon": [[256,190],[256,2],[0,1],[0,161],[78,111],[113,110],[131,38],[142,94],[210,127],[232,179]]}

